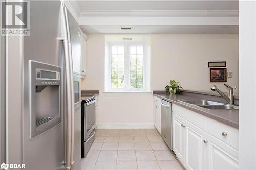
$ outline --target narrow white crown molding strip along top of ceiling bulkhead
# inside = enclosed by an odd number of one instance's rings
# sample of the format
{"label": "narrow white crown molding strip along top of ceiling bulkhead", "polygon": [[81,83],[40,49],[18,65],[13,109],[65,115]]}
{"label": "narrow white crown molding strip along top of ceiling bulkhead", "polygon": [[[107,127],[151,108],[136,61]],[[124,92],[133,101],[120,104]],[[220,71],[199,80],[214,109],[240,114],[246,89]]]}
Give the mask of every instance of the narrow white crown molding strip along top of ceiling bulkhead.
{"label": "narrow white crown molding strip along top of ceiling bulkhead", "polygon": [[238,10],[92,10],[81,11],[80,17],[194,17],[194,16],[219,16],[238,17]]}

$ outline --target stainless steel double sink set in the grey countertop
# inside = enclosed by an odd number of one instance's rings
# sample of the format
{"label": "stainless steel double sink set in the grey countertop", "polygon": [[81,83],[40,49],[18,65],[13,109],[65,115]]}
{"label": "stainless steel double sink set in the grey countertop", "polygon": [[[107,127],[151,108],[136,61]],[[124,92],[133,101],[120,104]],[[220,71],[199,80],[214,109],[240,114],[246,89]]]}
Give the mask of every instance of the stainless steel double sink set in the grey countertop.
{"label": "stainless steel double sink set in the grey countertop", "polygon": [[229,105],[226,103],[219,103],[219,102],[208,101],[208,100],[179,100],[179,101],[185,102],[191,105],[203,107],[206,109],[225,109],[225,110],[238,109],[237,105]]}

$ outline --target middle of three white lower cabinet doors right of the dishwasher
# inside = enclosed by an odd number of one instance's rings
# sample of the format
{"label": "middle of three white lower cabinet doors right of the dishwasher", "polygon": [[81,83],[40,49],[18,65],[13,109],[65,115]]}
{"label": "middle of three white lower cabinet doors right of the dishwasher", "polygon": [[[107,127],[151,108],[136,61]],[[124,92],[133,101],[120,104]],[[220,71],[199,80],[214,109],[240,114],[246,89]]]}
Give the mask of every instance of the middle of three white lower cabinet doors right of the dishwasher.
{"label": "middle of three white lower cabinet doors right of the dishwasher", "polygon": [[205,169],[205,131],[184,120],[185,167],[186,169]]}

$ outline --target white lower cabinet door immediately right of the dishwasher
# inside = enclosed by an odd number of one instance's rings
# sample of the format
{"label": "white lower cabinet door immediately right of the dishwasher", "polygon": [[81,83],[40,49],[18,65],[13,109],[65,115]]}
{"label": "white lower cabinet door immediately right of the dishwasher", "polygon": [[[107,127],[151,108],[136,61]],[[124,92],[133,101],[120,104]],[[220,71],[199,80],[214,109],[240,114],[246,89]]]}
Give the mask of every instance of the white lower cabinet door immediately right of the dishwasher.
{"label": "white lower cabinet door immediately right of the dishwasher", "polygon": [[184,165],[184,132],[183,118],[173,113],[173,151],[177,158]]}

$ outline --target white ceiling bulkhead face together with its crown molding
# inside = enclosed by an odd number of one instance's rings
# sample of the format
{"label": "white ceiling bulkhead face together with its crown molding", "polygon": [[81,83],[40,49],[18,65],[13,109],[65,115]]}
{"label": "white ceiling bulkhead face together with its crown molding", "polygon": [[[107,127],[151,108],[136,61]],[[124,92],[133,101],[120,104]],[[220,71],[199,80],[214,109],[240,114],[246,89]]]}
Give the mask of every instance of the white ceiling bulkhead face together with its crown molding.
{"label": "white ceiling bulkhead face together with its crown molding", "polygon": [[235,10],[82,11],[80,25],[206,25],[238,26]]}

